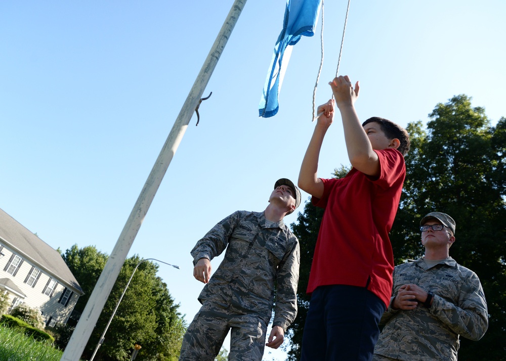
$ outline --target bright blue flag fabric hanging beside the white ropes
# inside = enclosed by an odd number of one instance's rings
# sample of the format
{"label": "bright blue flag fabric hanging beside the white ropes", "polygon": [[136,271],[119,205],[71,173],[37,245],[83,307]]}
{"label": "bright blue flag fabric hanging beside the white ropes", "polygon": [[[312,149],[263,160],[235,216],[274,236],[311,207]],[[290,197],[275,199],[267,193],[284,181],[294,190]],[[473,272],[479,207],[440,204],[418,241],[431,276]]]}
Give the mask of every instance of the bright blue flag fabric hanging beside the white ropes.
{"label": "bright blue flag fabric hanging beside the white ropes", "polygon": [[320,7],[321,0],[287,0],[283,29],[274,47],[274,55],[260,99],[259,116],[268,118],[278,112],[278,95],[292,47],[302,35],[314,35]]}

